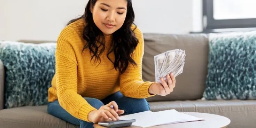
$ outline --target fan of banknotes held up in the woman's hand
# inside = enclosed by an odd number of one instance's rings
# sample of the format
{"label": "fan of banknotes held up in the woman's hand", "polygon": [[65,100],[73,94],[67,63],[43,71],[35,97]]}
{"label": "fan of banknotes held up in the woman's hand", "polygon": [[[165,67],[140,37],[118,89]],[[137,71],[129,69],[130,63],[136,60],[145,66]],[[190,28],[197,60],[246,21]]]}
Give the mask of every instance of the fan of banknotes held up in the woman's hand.
{"label": "fan of banknotes held up in the woman's hand", "polygon": [[156,82],[159,82],[161,77],[165,80],[166,75],[170,73],[173,73],[174,77],[181,74],[185,64],[185,56],[185,50],[181,49],[169,50],[154,56]]}

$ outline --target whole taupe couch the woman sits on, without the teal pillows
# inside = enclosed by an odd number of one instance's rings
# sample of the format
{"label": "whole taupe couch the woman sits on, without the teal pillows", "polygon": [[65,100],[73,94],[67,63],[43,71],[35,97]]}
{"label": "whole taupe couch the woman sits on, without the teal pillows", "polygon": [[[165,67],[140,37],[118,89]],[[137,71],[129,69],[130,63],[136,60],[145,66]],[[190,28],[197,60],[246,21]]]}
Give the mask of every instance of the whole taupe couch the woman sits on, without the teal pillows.
{"label": "whole taupe couch the woman sits on, without the teal pillows", "polygon": [[[204,101],[207,76],[208,37],[206,34],[144,34],[143,79],[154,81],[154,55],[170,49],[184,49],[186,63],[176,80],[173,93],[147,100],[152,111],[176,109],[223,115],[231,120],[229,128],[255,128],[256,101]],[[34,42],[34,41],[32,41]],[[0,109],[3,108],[3,66],[0,63]],[[79,128],[47,114],[47,106],[24,106],[0,110],[0,128]]]}

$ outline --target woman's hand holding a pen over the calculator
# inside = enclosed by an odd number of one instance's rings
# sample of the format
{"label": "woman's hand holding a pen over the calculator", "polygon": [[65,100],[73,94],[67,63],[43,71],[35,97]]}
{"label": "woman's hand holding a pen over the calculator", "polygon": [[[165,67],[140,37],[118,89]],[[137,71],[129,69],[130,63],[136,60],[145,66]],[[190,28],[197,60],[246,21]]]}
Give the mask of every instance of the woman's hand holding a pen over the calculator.
{"label": "woman's hand holding a pen over the calculator", "polygon": [[[110,106],[113,105],[112,109]],[[119,120],[119,115],[123,114],[124,110],[118,110],[118,106],[115,101],[101,106],[99,110],[91,111],[88,115],[88,120],[93,123],[106,121],[109,118],[113,121]]]}

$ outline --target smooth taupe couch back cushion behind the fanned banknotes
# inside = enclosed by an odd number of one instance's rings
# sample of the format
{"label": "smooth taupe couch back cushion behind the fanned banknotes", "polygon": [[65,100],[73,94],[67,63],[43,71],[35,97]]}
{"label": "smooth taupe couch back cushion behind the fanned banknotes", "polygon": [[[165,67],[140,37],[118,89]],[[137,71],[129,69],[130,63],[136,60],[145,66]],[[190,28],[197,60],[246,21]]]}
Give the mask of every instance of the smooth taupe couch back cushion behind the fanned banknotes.
{"label": "smooth taupe couch back cushion behind the fanned banknotes", "polygon": [[156,95],[148,101],[194,100],[203,95],[207,75],[208,37],[205,34],[144,34],[145,53],[142,76],[145,81],[155,81],[154,56],[167,50],[185,50],[183,73],[176,77],[176,87],[167,96]]}

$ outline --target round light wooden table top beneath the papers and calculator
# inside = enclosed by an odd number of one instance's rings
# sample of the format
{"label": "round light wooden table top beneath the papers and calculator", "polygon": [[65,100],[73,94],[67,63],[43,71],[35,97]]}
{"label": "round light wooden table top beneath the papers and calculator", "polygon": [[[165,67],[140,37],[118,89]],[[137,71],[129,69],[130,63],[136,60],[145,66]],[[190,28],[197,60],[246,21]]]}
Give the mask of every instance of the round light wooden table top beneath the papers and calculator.
{"label": "round light wooden table top beneath the papers and calculator", "polygon": [[[216,115],[216,114],[208,114],[208,113],[199,113],[199,112],[181,112],[189,115],[193,115],[198,118],[203,118],[205,120],[202,121],[193,121],[193,122],[183,122],[183,123],[174,123],[170,125],[160,125],[154,126],[150,128],[226,128],[230,124],[230,119]],[[103,126],[94,124],[95,128],[105,128]],[[124,128],[141,128],[136,126],[124,127]]]}

